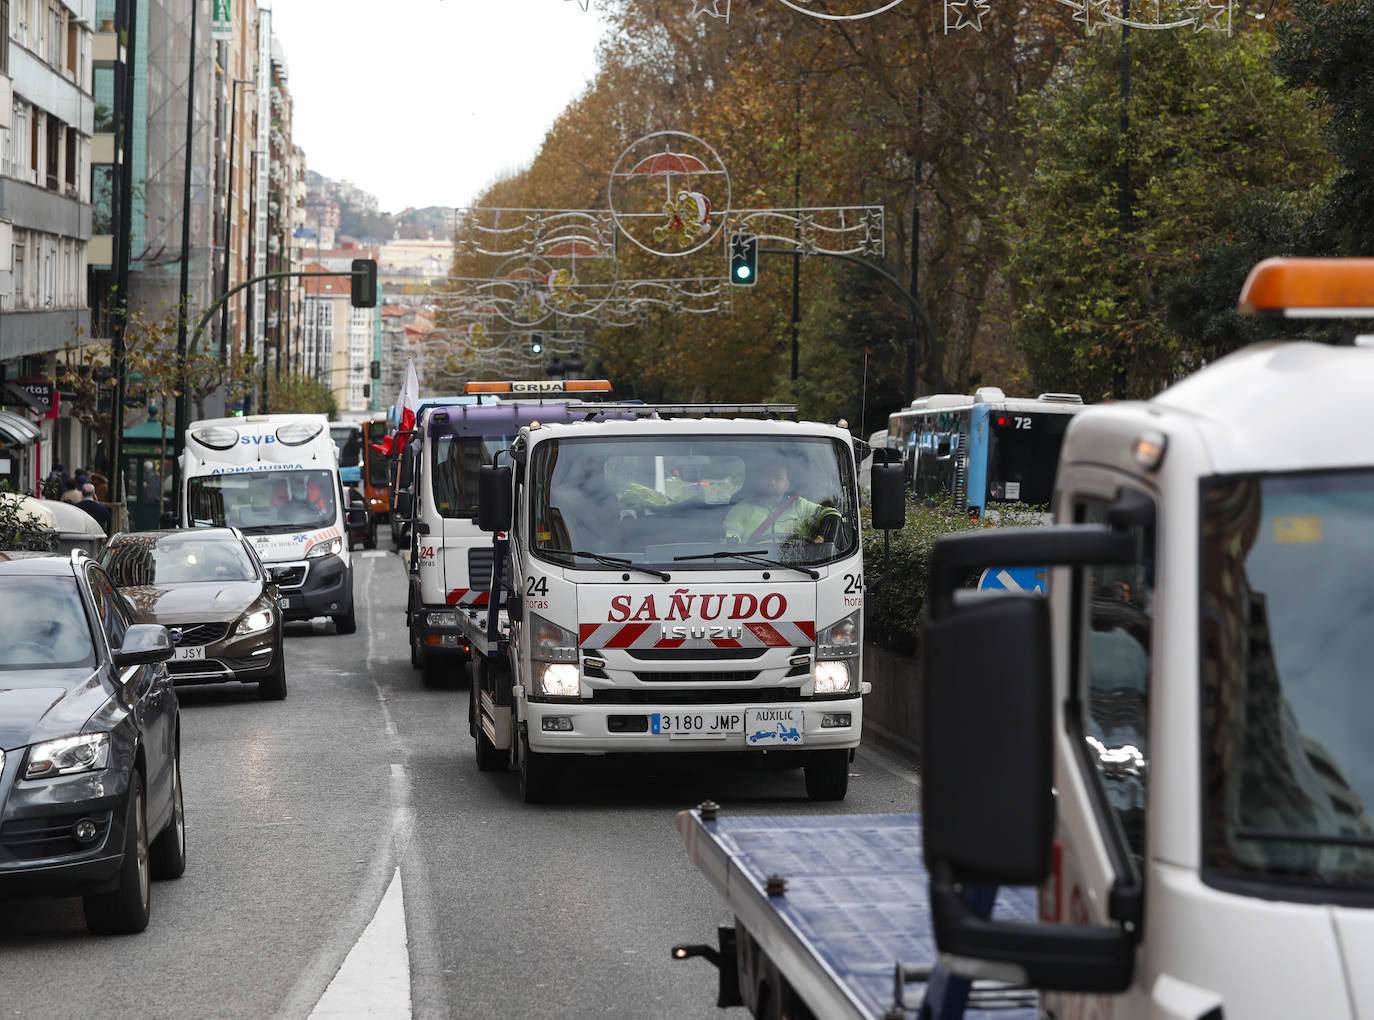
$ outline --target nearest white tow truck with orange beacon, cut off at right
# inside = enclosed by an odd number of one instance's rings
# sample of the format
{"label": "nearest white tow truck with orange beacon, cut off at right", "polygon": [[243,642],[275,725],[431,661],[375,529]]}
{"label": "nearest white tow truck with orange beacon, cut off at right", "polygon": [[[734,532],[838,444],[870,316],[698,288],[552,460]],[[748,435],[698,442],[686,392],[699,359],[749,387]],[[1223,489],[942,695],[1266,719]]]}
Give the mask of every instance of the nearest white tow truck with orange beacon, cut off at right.
{"label": "nearest white tow truck with orange beacon, cut off at right", "polygon": [[[1374,316],[1374,260],[1268,260],[1241,308]],[[1085,408],[1055,524],[937,543],[904,817],[923,861],[857,896],[851,876],[846,899],[742,834],[786,819],[683,812],[736,928],[677,955],[720,966],[723,1005],[757,1002],[763,975],[800,1017],[959,1016],[970,982],[1057,1020],[1374,1017],[1371,345],[1256,345]],[[1050,564],[1048,597],[963,590],[992,564]],[[882,845],[859,819],[794,828],[791,859],[841,832],[851,859]],[[841,916],[883,898],[911,907],[908,942],[856,949]],[[829,1008],[878,966],[888,1005]],[[911,1005],[910,977],[930,982]]]}

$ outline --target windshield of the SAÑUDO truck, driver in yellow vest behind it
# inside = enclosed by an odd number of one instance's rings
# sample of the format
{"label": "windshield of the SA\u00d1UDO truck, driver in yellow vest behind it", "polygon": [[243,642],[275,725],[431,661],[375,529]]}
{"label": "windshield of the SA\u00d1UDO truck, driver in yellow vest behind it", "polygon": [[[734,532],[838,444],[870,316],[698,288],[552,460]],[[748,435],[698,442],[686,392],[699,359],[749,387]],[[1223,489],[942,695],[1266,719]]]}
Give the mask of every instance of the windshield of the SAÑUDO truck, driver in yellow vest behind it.
{"label": "windshield of the SA\u00d1UDO truck, driver in yellow vest behind it", "polygon": [[[570,439],[539,444],[532,546],[680,569],[758,569],[741,551],[823,564],[859,540],[853,459],[820,437]],[[691,559],[683,559],[691,557]]]}

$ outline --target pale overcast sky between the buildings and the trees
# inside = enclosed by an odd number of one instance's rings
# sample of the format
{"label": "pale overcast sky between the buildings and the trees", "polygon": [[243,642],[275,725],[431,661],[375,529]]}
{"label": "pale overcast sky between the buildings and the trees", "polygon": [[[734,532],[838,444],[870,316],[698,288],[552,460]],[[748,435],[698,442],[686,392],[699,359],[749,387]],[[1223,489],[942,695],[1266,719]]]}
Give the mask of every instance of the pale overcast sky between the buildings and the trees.
{"label": "pale overcast sky between the buildings and the trees", "polygon": [[596,3],[264,0],[306,166],[382,212],[467,205],[526,165],[595,74]]}

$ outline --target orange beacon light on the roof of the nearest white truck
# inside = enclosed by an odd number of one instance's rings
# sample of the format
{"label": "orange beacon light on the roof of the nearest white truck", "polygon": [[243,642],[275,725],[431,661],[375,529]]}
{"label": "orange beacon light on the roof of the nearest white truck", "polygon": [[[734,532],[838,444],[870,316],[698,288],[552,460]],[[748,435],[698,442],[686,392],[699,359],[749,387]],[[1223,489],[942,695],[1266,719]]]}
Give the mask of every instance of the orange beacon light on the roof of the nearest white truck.
{"label": "orange beacon light on the roof of the nearest white truck", "polygon": [[1374,318],[1374,258],[1265,258],[1241,287],[1242,315]]}

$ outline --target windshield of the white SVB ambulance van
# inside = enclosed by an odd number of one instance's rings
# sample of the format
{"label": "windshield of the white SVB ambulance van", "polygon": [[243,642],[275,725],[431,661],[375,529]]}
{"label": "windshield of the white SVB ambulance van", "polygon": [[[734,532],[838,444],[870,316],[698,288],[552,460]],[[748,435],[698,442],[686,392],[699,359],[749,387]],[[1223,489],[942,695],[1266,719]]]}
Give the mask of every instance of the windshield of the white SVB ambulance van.
{"label": "windshield of the white SVB ambulance van", "polygon": [[337,488],[337,472],[207,474],[187,483],[187,507],[196,528],[311,531],[338,520]]}

